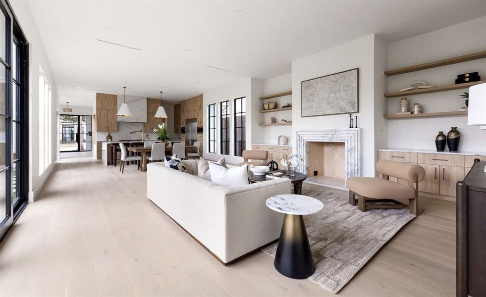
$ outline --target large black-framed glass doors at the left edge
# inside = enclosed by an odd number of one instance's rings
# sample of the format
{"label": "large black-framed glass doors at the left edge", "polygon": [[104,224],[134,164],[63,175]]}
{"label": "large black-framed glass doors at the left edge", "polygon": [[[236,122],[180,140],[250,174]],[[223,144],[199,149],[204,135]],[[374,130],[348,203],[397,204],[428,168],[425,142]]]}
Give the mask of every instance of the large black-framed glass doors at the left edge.
{"label": "large black-framed glass doors at the left edge", "polygon": [[28,44],[0,0],[0,238],[28,201]]}

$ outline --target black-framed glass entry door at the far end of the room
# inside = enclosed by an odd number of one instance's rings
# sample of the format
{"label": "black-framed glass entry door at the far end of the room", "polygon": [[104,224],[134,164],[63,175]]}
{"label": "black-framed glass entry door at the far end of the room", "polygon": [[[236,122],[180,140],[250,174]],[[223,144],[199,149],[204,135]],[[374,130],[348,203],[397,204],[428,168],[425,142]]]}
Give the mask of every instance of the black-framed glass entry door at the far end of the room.
{"label": "black-framed glass entry door at the far end of the room", "polygon": [[59,116],[59,151],[91,151],[93,122],[90,115]]}

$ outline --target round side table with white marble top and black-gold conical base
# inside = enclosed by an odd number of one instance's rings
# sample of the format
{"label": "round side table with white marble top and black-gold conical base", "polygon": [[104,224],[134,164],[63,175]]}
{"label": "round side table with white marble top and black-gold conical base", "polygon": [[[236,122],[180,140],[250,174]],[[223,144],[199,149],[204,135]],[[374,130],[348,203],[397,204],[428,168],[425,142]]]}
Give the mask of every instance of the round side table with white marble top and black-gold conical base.
{"label": "round side table with white marble top and black-gold conical base", "polygon": [[316,271],[303,215],[319,212],[323,202],[316,198],[283,194],[267,199],[267,206],[285,213],[273,266],[286,277],[305,279]]}

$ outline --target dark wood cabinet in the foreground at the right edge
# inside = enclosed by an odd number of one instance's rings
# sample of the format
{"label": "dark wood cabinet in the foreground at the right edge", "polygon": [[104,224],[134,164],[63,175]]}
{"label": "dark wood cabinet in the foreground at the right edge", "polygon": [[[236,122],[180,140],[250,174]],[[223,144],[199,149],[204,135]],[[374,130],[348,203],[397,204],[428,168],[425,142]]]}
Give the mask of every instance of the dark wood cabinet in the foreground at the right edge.
{"label": "dark wood cabinet in the foreground at the right edge", "polygon": [[456,296],[486,297],[486,161],[457,182]]}

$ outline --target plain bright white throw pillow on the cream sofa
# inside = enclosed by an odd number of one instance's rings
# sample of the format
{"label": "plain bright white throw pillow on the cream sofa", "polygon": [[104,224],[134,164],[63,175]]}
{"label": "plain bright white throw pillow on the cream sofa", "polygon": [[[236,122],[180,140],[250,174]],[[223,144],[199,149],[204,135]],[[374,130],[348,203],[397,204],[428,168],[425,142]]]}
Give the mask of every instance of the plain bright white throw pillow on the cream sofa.
{"label": "plain bright white throw pillow on the cream sofa", "polygon": [[215,163],[209,163],[211,181],[225,187],[238,187],[248,185],[248,164],[225,168]]}

